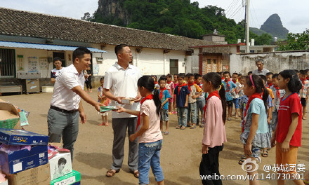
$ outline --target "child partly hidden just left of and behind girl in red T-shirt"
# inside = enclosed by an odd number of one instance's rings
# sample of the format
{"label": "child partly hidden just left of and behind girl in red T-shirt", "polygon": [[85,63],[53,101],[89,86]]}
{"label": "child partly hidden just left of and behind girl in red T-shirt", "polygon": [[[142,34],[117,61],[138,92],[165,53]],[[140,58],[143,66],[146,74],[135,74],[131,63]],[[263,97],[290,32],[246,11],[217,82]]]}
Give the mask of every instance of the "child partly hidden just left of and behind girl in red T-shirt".
{"label": "child partly hidden just left of and behind girl in red T-shirt", "polygon": [[272,87],[270,89],[272,90],[272,93],[274,94],[274,107],[272,109],[272,131],[275,131],[275,128],[277,126],[278,121],[278,110],[280,106],[280,100],[284,96],[285,91],[284,89],[279,89],[278,87],[278,76],[279,74],[273,74],[272,75]]}

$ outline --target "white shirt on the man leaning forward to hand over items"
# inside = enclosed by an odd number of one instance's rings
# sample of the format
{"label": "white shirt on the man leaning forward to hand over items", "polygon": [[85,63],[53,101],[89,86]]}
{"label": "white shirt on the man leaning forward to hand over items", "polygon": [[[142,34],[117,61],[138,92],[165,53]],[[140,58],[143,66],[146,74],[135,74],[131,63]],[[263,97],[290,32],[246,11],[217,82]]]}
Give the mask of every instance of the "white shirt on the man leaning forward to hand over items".
{"label": "white shirt on the man leaning forward to hand over items", "polygon": [[83,71],[79,74],[73,64],[63,67],[55,80],[51,105],[67,111],[79,109],[81,97],[74,93],[72,88],[81,86],[81,89],[84,89],[84,83]]}

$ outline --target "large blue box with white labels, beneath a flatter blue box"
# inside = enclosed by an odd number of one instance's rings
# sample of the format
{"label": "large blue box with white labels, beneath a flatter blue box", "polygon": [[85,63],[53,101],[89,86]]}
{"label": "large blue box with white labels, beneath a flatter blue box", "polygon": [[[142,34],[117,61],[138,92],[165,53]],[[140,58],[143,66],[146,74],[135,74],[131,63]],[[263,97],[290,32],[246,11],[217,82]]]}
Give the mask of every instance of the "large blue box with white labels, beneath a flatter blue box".
{"label": "large blue box with white labels, beneath a flatter blue box", "polygon": [[32,146],[31,150],[23,149],[6,153],[0,151],[1,170],[13,174],[32,167],[48,163],[47,146]]}

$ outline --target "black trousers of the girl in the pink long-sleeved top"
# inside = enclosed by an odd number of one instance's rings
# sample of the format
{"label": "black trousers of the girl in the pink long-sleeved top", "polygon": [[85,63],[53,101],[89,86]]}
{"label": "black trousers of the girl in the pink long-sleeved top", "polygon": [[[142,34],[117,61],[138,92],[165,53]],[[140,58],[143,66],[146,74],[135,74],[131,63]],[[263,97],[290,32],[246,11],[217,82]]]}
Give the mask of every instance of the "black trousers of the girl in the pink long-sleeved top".
{"label": "black trousers of the girl in the pink long-sleeved top", "polygon": [[[202,184],[203,185],[221,185],[222,181],[219,178],[215,179],[216,177],[220,177],[219,172],[219,152],[223,150],[222,146],[215,146],[213,148],[209,148],[207,154],[203,154],[201,163],[199,165],[199,174],[201,175]],[[206,177],[206,175],[211,175],[212,179],[202,178]]]}

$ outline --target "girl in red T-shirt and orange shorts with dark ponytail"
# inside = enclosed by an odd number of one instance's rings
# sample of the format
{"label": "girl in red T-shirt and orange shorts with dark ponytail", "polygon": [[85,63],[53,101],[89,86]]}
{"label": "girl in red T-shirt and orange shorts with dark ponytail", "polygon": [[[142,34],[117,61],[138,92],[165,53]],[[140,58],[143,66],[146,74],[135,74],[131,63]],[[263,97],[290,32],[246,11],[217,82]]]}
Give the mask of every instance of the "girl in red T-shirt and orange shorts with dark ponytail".
{"label": "girl in red T-shirt and orange shorts with dark ponytail", "polygon": [[[285,90],[278,110],[278,123],[272,137],[272,147],[276,146],[276,166],[291,166],[297,163],[298,147],[301,146],[302,120],[301,101],[298,92],[302,88],[301,81],[294,70],[284,70],[279,74],[280,89]],[[284,184],[284,177],[291,177],[294,184],[303,184],[296,168],[279,170],[277,184]],[[289,175],[287,175],[289,174]]]}

